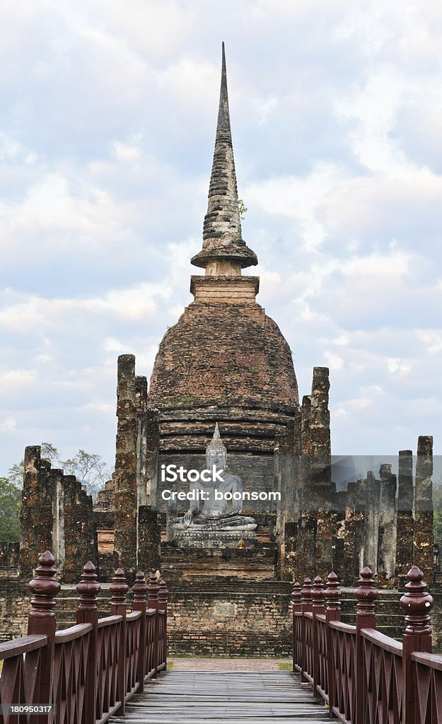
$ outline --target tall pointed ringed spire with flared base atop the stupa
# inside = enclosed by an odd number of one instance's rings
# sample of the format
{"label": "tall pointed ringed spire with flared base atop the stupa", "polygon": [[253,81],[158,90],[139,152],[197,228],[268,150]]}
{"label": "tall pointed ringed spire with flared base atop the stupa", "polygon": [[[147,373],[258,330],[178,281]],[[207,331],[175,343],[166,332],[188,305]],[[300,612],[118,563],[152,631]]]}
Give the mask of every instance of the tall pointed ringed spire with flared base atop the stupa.
{"label": "tall pointed ringed spire with flared base atop the stupa", "polygon": [[243,267],[258,263],[257,255],[246,246],[241,236],[224,43],[222,43],[220,107],[209,185],[209,203],[204,217],[203,248],[193,256],[191,263],[205,267],[206,274],[226,276],[241,274]]}

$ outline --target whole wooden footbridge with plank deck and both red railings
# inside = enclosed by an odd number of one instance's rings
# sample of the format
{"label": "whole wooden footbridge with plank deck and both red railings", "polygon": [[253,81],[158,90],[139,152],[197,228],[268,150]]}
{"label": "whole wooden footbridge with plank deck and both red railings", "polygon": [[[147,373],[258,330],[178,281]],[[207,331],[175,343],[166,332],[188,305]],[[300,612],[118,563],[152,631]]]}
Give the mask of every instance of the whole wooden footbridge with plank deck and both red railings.
{"label": "whole wooden footbridge with plank deck and both red railings", "polygon": [[293,672],[167,672],[167,587],[137,573],[133,605],[121,569],[110,615],[98,618],[93,563],[77,586],[77,624],[56,631],[60,589],[38,560],[28,636],[0,644],[1,724],[442,724],[442,657],[431,654],[433,599],[414,566],[402,641],[376,631],[370,568],[355,591],[356,626],[341,622],[335,573],[293,587]]}

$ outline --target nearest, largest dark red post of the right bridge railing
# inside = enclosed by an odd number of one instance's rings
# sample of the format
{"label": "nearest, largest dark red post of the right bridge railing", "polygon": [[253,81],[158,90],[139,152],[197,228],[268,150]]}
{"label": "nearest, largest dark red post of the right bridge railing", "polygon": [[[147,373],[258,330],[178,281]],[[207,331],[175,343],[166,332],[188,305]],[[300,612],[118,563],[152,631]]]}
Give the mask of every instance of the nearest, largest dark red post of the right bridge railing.
{"label": "nearest, largest dark red post of the right bridge railing", "polygon": [[406,577],[408,578],[405,586],[407,591],[401,597],[401,609],[406,614],[406,628],[402,637],[402,671],[404,673],[402,722],[403,724],[414,724],[417,691],[411,654],[414,651],[431,653],[429,613],[434,601],[427,591],[427,584],[423,580],[424,574],[420,568],[417,568],[417,565],[410,568]]}

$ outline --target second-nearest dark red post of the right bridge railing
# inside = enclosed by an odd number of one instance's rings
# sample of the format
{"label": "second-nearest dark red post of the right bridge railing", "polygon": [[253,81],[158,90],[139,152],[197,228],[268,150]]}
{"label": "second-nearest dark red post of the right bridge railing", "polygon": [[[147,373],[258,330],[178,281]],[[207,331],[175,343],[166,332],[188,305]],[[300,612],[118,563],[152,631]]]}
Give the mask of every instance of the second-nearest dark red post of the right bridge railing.
{"label": "second-nearest dark red post of the right bridge railing", "polygon": [[[362,628],[376,628],[375,600],[378,598],[378,591],[375,581],[372,579],[371,568],[366,566],[361,571],[361,578],[358,581],[358,588],[354,592],[357,599],[356,604],[356,665],[354,673],[354,691],[356,699],[354,702],[355,724],[364,722],[364,713],[367,707],[367,681],[364,670],[364,641],[361,636]],[[352,723],[353,724],[353,723]]]}

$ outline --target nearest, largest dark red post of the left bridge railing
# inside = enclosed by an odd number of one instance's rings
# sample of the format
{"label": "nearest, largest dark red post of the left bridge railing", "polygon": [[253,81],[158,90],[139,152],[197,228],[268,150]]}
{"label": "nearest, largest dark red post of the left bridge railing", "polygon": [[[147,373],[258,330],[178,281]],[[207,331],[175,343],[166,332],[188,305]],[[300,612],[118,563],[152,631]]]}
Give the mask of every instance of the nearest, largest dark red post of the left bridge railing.
{"label": "nearest, largest dark red post of the left bridge railing", "polygon": [[[38,700],[36,704],[52,704],[52,679],[54,676],[54,637],[57,620],[55,618],[54,606],[55,596],[61,588],[57,578],[54,577],[55,558],[51,551],[46,550],[38,558],[36,577],[30,581],[28,586],[33,598],[30,601],[31,610],[28,616],[28,635],[44,634],[48,637],[48,645],[41,649],[41,677],[38,689]],[[34,702],[33,702],[34,703]],[[47,724],[47,714],[37,717],[38,724]]]}

